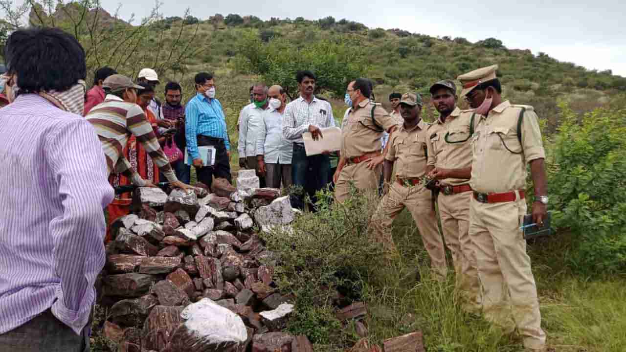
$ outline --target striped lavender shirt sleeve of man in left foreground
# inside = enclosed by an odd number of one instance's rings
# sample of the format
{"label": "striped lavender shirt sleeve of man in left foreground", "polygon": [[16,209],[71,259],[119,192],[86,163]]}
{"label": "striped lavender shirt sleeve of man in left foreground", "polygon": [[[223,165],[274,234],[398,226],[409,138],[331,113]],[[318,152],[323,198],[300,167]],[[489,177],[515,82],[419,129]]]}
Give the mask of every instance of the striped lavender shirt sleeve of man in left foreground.
{"label": "striped lavender shirt sleeve of man in left foreground", "polygon": [[48,142],[48,162],[63,207],[63,214],[49,224],[53,269],[60,284],[52,310],[80,334],[94,303],[96,276],[105,264],[103,209],[113,200],[113,189],[91,124],[72,121],[61,130],[51,134]]}

